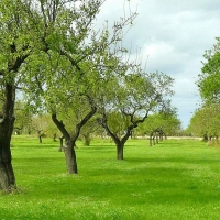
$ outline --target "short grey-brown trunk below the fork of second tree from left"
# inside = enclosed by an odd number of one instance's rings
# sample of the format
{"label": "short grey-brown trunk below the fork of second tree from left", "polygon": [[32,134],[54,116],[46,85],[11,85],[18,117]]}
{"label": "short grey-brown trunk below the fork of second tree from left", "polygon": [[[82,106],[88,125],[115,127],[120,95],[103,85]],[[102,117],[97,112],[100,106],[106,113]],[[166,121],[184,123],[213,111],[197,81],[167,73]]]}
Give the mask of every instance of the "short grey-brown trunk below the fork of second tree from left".
{"label": "short grey-brown trunk below the fork of second tree from left", "polygon": [[75,145],[75,141],[67,140],[64,147],[66,167],[69,174],[78,174]]}

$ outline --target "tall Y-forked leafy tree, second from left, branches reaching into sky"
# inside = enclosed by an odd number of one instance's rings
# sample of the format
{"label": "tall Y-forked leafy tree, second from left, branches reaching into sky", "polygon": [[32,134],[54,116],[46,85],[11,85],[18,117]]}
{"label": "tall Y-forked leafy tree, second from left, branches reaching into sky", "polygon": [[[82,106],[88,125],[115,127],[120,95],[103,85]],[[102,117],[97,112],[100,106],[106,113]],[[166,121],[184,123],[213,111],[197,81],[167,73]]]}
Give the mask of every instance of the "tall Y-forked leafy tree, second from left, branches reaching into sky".
{"label": "tall Y-forked leafy tree, second from left, branches reaching into sky", "polygon": [[[65,138],[65,157],[70,174],[78,173],[74,146],[81,128],[97,111],[95,99],[99,82],[103,84],[102,70],[122,59],[123,29],[136,15],[132,13],[114,23],[112,34],[108,26],[95,31],[92,22],[102,2],[40,1],[45,50],[33,53],[22,70],[28,73],[23,81],[30,106],[46,107]],[[110,66],[107,66],[109,59]],[[69,130],[65,120],[73,114]]]}

